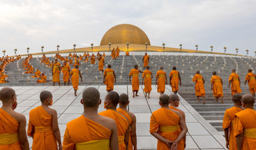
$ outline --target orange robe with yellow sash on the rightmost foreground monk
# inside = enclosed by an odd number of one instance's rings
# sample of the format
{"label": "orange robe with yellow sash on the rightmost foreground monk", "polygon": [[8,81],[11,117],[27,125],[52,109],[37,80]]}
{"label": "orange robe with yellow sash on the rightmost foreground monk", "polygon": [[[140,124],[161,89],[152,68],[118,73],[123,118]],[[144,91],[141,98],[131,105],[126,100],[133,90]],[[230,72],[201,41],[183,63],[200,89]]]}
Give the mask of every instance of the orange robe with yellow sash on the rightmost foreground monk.
{"label": "orange robe with yellow sash on the rightmost foreground monk", "polygon": [[256,111],[250,108],[235,114],[235,136],[243,132],[242,150],[256,149]]}

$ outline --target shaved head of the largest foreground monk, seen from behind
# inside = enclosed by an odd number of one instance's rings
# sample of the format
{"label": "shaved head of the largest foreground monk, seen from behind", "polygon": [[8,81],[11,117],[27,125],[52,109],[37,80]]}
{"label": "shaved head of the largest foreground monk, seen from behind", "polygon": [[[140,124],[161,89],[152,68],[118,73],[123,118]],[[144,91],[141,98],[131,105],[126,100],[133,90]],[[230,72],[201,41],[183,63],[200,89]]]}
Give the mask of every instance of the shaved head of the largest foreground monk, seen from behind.
{"label": "shaved head of the largest foreground monk, seen from behind", "polygon": [[82,103],[87,108],[94,108],[99,104],[100,100],[100,92],[97,88],[86,88],[85,91],[82,92]]}

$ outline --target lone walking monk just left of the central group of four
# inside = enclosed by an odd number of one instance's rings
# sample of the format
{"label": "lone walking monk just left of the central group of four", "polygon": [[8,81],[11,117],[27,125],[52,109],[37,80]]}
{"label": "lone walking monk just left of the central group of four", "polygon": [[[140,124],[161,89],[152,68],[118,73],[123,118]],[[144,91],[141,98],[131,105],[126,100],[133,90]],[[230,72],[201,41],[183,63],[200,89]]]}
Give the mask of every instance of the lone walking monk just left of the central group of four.
{"label": "lone walking monk just left of the central group of four", "polygon": [[103,83],[107,86],[107,93],[114,90],[114,83],[117,82],[117,77],[115,76],[114,70],[111,69],[111,65],[107,65],[107,69],[105,69],[103,74]]}

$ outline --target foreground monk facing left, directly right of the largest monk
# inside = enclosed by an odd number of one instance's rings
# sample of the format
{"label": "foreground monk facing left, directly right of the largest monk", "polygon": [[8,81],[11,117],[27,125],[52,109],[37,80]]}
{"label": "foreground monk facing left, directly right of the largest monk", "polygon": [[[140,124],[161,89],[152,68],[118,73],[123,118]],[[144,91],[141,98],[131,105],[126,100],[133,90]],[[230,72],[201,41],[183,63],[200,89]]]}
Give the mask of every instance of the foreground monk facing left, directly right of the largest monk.
{"label": "foreground monk facing left, directly right of the largest monk", "polygon": [[107,110],[99,113],[102,116],[110,117],[117,124],[117,135],[119,150],[128,150],[129,145],[129,122],[124,115],[117,112],[117,104],[119,103],[119,95],[117,92],[107,93],[105,97],[105,108]]}

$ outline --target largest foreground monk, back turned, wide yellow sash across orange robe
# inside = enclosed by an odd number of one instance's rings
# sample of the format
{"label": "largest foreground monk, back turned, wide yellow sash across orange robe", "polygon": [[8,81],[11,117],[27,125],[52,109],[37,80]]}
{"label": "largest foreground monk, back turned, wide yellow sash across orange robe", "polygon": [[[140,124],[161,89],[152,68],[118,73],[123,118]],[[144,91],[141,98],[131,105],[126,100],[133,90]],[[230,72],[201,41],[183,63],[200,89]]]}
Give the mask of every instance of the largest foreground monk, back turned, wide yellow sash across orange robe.
{"label": "largest foreground monk, back turned, wide yellow sash across orange robe", "polygon": [[101,103],[100,92],[96,88],[86,88],[82,92],[81,103],[84,113],[68,122],[63,139],[63,150],[117,150],[117,125],[114,120],[97,113]]}

